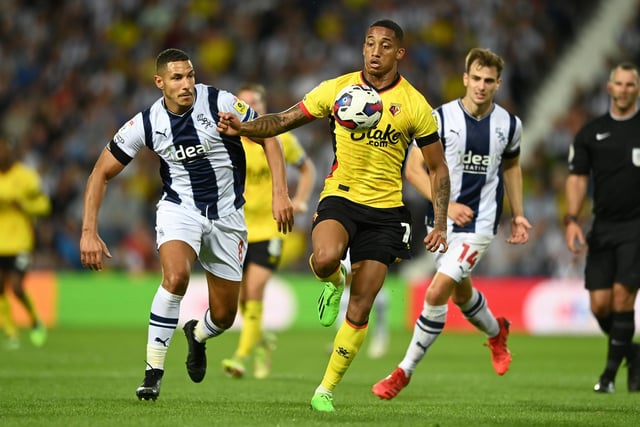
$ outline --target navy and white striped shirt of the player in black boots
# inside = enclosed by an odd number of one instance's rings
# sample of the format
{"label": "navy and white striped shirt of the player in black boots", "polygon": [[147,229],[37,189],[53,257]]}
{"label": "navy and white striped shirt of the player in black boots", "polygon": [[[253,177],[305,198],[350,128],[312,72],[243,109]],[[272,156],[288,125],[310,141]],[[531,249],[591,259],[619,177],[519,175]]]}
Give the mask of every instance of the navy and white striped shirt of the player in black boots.
{"label": "navy and white striped shirt of the player in black boots", "polygon": [[244,205],[246,159],[239,137],[216,130],[218,111],[235,113],[241,121],[255,113],[233,94],[195,85],[195,103],[177,115],[163,98],[129,120],[109,143],[111,153],[128,164],[143,147],[160,158],[161,199],[218,219]]}

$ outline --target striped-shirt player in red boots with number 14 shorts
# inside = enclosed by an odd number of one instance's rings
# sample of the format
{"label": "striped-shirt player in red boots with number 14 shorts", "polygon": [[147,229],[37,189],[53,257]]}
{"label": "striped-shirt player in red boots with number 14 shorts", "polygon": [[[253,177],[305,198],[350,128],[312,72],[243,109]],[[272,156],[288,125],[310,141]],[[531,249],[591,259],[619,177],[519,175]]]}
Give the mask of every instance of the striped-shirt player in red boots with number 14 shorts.
{"label": "striped-shirt player in red boots with number 14 shorts", "polygon": [[[509,369],[509,322],[493,316],[486,299],[471,283],[471,271],[498,230],[504,190],[513,217],[507,242],[526,243],[527,230],[531,228],[522,206],[522,123],[493,102],[503,64],[502,58],[487,49],[471,49],[462,79],[465,96],[436,109],[438,132],[451,174],[449,250],[435,255],[437,273],[427,289],[404,359],[391,375],[373,386],[373,393],[382,399],[394,398],[409,384],[416,366],[444,328],[449,298],[489,337],[496,373],[504,375]],[[420,150],[411,150],[406,177],[431,199],[421,157]],[[427,228],[432,226],[433,221],[427,216]]]}

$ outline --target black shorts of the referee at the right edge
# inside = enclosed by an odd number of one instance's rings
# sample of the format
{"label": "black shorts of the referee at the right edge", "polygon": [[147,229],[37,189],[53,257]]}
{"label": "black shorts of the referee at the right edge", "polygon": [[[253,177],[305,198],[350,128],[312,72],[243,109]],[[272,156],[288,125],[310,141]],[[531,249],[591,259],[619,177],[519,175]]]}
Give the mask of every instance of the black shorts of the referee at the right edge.
{"label": "black shorts of the referee at the right edge", "polygon": [[587,234],[585,288],[640,287],[640,221],[594,221]]}

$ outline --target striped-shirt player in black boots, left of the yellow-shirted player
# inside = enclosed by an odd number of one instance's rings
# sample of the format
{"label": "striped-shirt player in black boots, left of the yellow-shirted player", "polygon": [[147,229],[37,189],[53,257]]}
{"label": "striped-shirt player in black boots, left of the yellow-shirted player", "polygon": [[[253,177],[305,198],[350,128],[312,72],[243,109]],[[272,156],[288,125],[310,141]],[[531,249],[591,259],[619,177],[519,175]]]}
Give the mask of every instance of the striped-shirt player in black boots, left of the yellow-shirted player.
{"label": "striped-shirt player in black boots, left of the yellow-shirted player", "polygon": [[[256,113],[224,90],[196,84],[189,56],[167,49],[156,59],[156,87],[162,97],[136,114],[102,151],[89,176],[84,198],[80,251],[82,264],[102,270],[111,253],[98,235],[98,212],[107,183],[143,148],[160,159],[163,194],[157,205],[156,238],[162,283],[151,303],[147,368],[136,395],[155,400],[164,362],[178,326],[180,302],[199,260],[209,288],[209,309],[200,321],[184,325],[189,352],[187,371],[194,382],[206,372],[205,341],[231,327],[238,308],[242,263],[247,248],[244,181],[245,155],[240,138],[220,135],[218,111],[240,121]],[[279,231],[293,226],[282,148],[274,139],[261,144],[273,177],[273,216]]]}

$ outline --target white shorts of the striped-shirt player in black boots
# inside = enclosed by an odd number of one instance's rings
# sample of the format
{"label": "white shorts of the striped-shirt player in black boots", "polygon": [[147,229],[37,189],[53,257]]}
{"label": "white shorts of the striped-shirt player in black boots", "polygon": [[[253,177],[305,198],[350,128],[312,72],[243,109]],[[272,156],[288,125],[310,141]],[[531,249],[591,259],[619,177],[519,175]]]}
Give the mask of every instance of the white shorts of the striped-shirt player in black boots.
{"label": "white shorts of the striped-shirt player in black boots", "polygon": [[244,209],[211,220],[175,203],[160,201],[156,213],[158,248],[170,240],[180,240],[191,246],[202,267],[214,276],[242,280],[242,265],[247,253]]}

